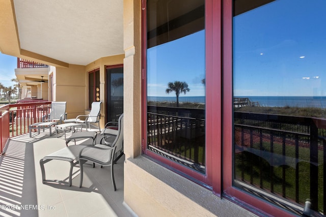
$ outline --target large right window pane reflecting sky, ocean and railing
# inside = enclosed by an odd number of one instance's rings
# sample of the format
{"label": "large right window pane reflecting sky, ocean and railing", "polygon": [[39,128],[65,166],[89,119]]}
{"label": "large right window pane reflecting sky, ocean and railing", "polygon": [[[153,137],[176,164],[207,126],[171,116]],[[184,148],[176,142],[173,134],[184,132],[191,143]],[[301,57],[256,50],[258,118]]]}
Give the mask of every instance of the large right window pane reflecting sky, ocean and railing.
{"label": "large right window pane reflecting sky, ocean and railing", "polygon": [[251,2],[234,1],[234,185],[297,214],[310,200],[322,213],[326,1]]}

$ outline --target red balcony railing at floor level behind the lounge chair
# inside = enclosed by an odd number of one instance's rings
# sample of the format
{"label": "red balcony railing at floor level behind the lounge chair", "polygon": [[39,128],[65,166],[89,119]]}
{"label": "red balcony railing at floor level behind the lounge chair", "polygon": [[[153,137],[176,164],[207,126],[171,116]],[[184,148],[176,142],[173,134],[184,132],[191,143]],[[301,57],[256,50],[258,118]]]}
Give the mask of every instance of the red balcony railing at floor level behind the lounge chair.
{"label": "red balcony railing at floor level behind the lounge chair", "polygon": [[29,132],[28,126],[42,121],[49,113],[51,102],[16,103],[0,107],[0,152],[10,137]]}

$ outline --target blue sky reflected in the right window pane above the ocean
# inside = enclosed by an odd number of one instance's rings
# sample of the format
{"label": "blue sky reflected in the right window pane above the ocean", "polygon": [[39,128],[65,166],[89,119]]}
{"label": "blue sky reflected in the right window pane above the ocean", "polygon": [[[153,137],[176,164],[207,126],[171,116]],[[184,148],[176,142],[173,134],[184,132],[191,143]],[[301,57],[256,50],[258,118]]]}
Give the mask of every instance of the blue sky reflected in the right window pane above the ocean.
{"label": "blue sky reflected in the right window pane above the ocean", "polygon": [[326,96],[325,11],[279,0],[236,16],[234,96]]}

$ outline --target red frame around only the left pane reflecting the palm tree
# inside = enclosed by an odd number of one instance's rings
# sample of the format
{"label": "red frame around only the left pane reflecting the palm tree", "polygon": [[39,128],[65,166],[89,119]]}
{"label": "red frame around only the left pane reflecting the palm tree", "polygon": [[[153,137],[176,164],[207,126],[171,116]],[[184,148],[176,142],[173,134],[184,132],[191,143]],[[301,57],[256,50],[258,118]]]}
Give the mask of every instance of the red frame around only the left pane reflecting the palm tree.
{"label": "red frame around only the left pane reflecting the palm tree", "polygon": [[[171,161],[167,158],[159,156],[158,154],[147,150],[147,78],[146,78],[146,64],[147,64],[147,8],[146,4],[147,1],[143,5],[142,10],[142,154],[145,154],[153,161],[157,162],[161,166],[164,166],[188,179],[193,180],[194,182],[202,185],[203,187],[213,190],[216,195],[221,195],[221,186],[219,184],[213,184],[213,182],[219,182],[221,180],[221,167],[215,167],[214,169],[217,170],[217,173],[213,173],[213,166],[217,163],[217,165],[221,165],[221,132],[213,132],[209,129],[219,129],[221,126],[221,101],[214,101],[213,99],[217,98],[221,99],[221,88],[220,85],[216,85],[216,83],[221,83],[221,67],[219,66],[218,61],[213,61],[212,58],[207,58],[208,56],[211,57],[211,53],[216,53],[214,49],[212,49],[213,45],[213,38],[216,37],[214,33],[218,33],[220,31],[213,31],[212,28],[207,29],[208,26],[212,26],[212,17],[221,17],[221,13],[213,14],[213,7],[217,7],[219,11],[221,11],[221,0],[212,1],[212,0],[205,0],[205,63],[206,63],[206,171],[205,174],[201,174],[197,171],[194,171],[190,168],[182,166],[179,163]],[[214,33],[213,33],[214,32]],[[218,42],[215,42],[215,45],[220,45],[221,43],[221,36],[218,36]],[[220,46],[221,47],[221,46]],[[219,53],[219,52],[217,52]],[[219,58],[221,55],[218,54]],[[221,61],[220,61],[221,63]],[[215,71],[215,75],[212,73],[213,70]],[[217,72],[217,73],[216,73]],[[211,89],[208,91],[208,84]],[[215,84],[215,85],[213,85]],[[213,108],[207,110],[207,108]],[[213,112],[215,111],[215,112]],[[219,115],[216,115],[218,113]],[[208,127],[209,126],[209,127]],[[207,144],[215,144],[207,145]],[[215,154],[214,154],[215,152]],[[213,158],[213,156],[217,156],[217,158]],[[214,162],[214,163],[213,163]],[[214,174],[214,175],[213,175]],[[218,174],[218,175],[216,175]],[[212,188],[215,186],[215,188]]]}

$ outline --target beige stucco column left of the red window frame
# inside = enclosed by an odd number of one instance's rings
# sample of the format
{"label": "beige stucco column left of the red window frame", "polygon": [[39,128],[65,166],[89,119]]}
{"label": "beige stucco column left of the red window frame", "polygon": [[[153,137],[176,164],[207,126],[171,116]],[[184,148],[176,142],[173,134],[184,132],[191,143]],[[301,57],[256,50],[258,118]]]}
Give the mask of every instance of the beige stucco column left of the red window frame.
{"label": "beige stucco column left of the red window frame", "polygon": [[124,25],[124,153],[126,159],[141,154],[141,1],[125,0]]}

